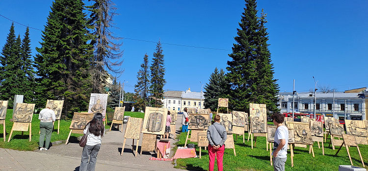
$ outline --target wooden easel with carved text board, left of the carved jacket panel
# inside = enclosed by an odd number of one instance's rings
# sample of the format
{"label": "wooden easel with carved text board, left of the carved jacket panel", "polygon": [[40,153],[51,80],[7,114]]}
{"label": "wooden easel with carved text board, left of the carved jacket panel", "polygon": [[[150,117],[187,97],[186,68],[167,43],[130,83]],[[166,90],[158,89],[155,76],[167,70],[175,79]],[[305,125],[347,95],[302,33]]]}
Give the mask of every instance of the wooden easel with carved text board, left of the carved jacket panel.
{"label": "wooden easel with carved text board, left of the carved jacket panel", "polygon": [[125,148],[125,142],[127,141],[127,138],[131,138],[133,139],[133,143],[131,145],[131,150],[134,153],[134,139],[137,139],[137,144],[135,147],[135,155],[134,157],[137,156],[137,152],[138,152],[138,143],[139,143],[139,137],[140,137],[140,129],[142,128],[142,122],[143,119],[142,118],[132,118],[130,117],[128,119],[128,123],[127,123],[127,127],[125,128],[125,134],[124,134],[124,143],[123,143],[123,148],[121,150],[120,155],[123,155],[124,152],[124,148]]}

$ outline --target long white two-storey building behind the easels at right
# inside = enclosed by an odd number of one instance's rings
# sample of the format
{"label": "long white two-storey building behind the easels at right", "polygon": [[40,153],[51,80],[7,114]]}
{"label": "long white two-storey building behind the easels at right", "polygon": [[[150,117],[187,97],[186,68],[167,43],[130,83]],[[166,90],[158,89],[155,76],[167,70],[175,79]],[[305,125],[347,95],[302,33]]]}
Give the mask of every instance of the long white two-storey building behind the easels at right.
{"label": "long white two-storey building behind the easels at right", "polygon": [[[368,118],[366,96],[368,97],[366,87],[335,93],[316,92],[315,113],[339,120],[366,120]],[[314,92],[295,93],[294,112],[313,114],[314,100]],[[281,113],[291,113],[292,93],[279,93],[279,104]]]}

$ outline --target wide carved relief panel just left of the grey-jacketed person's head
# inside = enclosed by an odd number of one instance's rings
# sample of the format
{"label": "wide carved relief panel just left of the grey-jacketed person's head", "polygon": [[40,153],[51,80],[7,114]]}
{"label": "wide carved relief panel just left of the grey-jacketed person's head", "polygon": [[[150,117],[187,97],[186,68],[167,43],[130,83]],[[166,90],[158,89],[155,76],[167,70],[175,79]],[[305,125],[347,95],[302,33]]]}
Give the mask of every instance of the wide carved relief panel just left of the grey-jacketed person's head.
{"label": "wide carved relief panel just left of the grey-jacketed person's head", "polygon": [[209,116],[208,114],[190,113],[188,117],[188,129],[208,129]]}

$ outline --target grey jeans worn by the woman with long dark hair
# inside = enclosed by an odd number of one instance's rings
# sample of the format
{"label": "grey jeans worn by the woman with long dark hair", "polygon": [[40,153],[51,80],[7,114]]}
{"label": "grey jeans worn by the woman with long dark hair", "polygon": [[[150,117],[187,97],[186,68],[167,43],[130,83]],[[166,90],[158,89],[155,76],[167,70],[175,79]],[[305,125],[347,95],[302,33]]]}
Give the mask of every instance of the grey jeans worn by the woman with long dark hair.
{"label": "grey jeans worn by the woman with long dark hair", "polygon": [[95,146],[84,146],[79,171],[95,171],[97,154],[99,153],[100,148],[101,144]]}

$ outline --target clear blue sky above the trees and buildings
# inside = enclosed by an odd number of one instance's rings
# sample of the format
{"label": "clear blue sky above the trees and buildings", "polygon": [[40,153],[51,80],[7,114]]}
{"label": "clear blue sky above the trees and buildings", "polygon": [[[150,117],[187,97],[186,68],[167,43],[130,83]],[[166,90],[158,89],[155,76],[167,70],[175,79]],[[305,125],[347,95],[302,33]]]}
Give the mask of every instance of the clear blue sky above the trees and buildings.
{"label": "clear blue sky above the trees and buildings", "polygon": [[[200,46],[163,44],[167,84],[164,89],[200,91],[214,68],[226,71],[232,53],[243,0],[113,0],[119,9],[114,20],[120,37]],[[267,13],[269,50],[280,91],[308,91],[314,80],[339,91],[368,85],[367,0],[258,0]],[[52,0],[1,0],[0,15],[44,29]],[[0,17],[2,48],[11,21]],[[16,34],[26,27],[15,23]],[[41,31],[30,29],[31,47],[40,47]],[[134,91],[144,54],[151,63],[156,43],[123,40],[125,90]]]}

